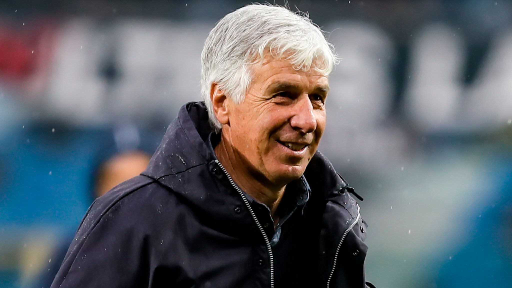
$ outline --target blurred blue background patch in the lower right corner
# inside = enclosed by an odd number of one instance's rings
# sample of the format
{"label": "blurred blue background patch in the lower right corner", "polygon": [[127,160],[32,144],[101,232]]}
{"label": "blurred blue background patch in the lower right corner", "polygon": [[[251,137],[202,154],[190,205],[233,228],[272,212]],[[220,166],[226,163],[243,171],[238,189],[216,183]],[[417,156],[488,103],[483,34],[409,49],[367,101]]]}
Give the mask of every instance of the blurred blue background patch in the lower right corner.
{"label": "blurred blue background patch in the lower right corner", "polygon": [[[512,283],[512,158],[496,158],[486,178],[497,189],[468,213],[471,236],[444,261],[438,287],[508,287]],[[477,188],[478,189],[478,188]]]}

